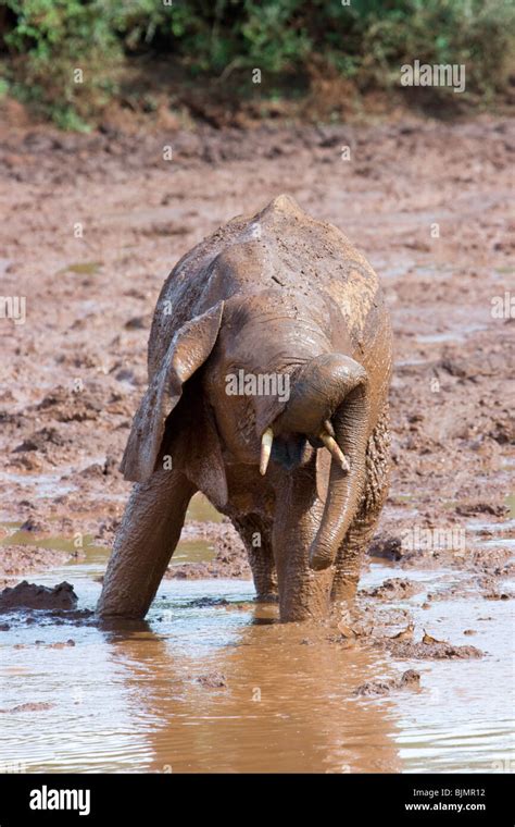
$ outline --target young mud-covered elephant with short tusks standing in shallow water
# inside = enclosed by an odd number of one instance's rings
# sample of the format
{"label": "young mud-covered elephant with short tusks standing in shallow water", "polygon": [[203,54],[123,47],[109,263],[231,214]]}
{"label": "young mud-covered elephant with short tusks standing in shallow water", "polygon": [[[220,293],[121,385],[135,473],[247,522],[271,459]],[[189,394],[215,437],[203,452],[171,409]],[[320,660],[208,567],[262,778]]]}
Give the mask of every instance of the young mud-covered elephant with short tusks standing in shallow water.
{"label": "young mud-covered elephant with short tusks standing in shallow water", "polygon": [[281,621],[351,607],[388,492],[391,361],[376,273],[290,196],[184,256],[153,316],[98,614],[145,617],[197,492]]}

